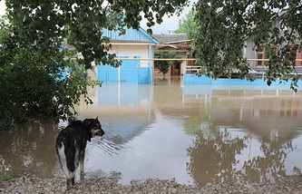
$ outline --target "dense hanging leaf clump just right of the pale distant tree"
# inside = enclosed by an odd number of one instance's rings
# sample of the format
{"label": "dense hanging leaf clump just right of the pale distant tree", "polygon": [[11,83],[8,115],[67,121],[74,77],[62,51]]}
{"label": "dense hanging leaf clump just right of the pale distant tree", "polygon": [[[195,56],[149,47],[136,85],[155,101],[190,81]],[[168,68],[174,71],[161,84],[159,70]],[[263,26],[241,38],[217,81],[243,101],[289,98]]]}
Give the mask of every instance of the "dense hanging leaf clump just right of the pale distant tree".
{"label": "dense hanging leaf clump just right of the pale distant tree", "polygon": [[[196,10],[198,34],[193,36],[193,47],[197,63],[202,66],[201,73],[213,78],[239,73],[239,78],[247,78],[248,63],[241,57],[247,31],[242,28],[240,7],[224,5],[224,2],[210,5],[210,1],[202,1]],[[253,80],[252,77],[248,79]]]}

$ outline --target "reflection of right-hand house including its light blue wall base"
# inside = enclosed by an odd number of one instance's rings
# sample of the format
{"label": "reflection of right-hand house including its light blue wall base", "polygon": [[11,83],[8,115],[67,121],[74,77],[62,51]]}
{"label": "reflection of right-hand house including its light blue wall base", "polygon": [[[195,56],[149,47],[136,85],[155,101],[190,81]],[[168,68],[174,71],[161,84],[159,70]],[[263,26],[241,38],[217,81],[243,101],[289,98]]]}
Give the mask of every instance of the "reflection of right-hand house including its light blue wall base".
{"label": "reflection of right-hand house including its light blue wall base", "polygon": [[[186,86],[187,87],[187,86]],[[278,90],[215,90],[200,87],[200,90],[186,88],[183,103],[204,102],[217,114],[238,112],[244,119],[291,118],[301,119],[302,97],[291,91]],[[219,108],[219,109],[218,109]],[[229,112],[231,110],[231,112]],[[228,116],[228,115],[225,115]]]}

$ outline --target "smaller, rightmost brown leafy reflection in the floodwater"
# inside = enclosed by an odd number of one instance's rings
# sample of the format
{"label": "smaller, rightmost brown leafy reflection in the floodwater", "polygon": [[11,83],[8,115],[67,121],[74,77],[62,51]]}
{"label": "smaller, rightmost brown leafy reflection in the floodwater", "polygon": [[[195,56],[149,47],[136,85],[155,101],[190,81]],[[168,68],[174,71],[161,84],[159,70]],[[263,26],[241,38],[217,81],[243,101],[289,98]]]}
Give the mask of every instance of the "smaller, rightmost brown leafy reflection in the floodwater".
{"label": "smaller, rightmost brown leafy reflection in the floodwater", "polygon": [[242,177],[253,181],[278,180],[286,176],[285,160],[287,152],[294,150],[292,141],[282,144],[278,141],[260,140],[263,156],[244,162]]}

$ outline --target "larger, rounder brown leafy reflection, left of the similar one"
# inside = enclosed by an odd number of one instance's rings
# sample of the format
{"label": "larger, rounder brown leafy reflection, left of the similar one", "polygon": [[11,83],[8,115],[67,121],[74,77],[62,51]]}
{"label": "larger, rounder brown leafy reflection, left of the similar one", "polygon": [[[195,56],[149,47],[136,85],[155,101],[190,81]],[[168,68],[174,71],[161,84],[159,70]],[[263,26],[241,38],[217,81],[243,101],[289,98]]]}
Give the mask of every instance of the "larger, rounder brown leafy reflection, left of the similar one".
{"label": "larger, rounder brown leafy reflection, left of the similar one", "polygon": [[194,147],[188,149],[190,163],[187,169],[191,177],[198,184],[237,178],[240,172],[233,169],[238,162],[235,156],[247,147],[247,139],[232,138],[229,131],[219,131],[218,127],[209,129],[208,134],[200,131]]}

